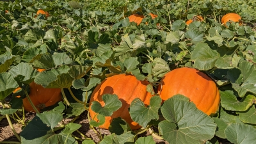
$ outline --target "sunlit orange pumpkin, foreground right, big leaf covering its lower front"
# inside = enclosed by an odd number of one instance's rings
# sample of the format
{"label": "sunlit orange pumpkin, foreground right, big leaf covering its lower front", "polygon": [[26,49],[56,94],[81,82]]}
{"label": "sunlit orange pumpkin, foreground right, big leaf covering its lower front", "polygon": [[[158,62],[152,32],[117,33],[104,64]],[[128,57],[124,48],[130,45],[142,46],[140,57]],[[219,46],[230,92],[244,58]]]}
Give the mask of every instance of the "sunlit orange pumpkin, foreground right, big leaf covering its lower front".
{"label": "sunlit orange pumpkin, foreground right, big leaf covering its lower front", "polygon": [[184,95],[207,115],[216,113],[220,104],[220,93],[214,81],[195,68],[183,67],[168,72],[158,91],[163,100],[176,94]]}

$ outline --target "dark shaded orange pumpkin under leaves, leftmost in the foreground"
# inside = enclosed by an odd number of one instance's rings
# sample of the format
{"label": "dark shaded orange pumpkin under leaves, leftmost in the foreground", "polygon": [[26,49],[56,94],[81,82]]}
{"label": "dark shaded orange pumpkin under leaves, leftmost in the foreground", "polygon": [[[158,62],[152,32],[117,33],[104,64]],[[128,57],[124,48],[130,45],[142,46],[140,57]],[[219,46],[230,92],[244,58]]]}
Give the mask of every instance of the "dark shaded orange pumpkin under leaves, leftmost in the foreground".
{"label": "dark shaded orange pumpkin under leaves, leftmost in the foreground", "polygon": [[[38,69],[39,72],[44,71],[44,69]],[[62,100],[60,88],[44,88],[40,84],[34,82],[29,84],[30,93],[29,97],[33,104],[36,106],[38,111],[48,106],[52,106],[57,102]],[[13,93],[17,92],[20,88],[17,88]],[[19,96],[17,96],[19,97]],[[28,98],[23,99],[23,106],[26,111],[34,111],[33,107],[29,103]]]}

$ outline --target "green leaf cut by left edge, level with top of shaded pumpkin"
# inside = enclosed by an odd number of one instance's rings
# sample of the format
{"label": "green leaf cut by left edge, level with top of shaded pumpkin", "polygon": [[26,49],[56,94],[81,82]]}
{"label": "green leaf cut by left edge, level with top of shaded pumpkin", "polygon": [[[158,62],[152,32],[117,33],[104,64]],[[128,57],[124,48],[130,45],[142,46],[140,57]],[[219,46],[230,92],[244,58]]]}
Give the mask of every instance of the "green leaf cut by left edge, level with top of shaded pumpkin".
{"label": "green leaf cut by left edge, level with top of shaded pumpkin", "polygon": [[0,100],[3,100],[5,97],[10,95],[19,84],[15,81],[12,74],[3,72],[0,74]]}

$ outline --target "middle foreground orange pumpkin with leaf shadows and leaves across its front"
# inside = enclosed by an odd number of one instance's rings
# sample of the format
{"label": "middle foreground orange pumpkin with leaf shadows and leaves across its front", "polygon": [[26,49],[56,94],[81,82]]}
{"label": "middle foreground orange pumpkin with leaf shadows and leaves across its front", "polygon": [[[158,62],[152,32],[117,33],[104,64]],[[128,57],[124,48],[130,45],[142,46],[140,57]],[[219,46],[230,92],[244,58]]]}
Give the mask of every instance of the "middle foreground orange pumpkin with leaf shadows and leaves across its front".
{"label": "middle foreground orange pumpkin with leaf shadows and leaves across its front", "polygon": [[104,106],[102,95],[107,93],[116,94],[122,102],[122,107],[115,111],[112,116],[106,116],[105,123],[100,125],[100,128],[109,129],[113,118],[120,116],[130,125],[131,129],[140,129],[141,126],[132,121],[128,108],[135,98],[140,98],[146,105],[150,103],[152,95],[147,92],[147,84],[148,81],[138,81],[135,76],[125,74],[118,74],[104,79],[92,93],[89,108],[90,116],[97,121],[97,116],[95,116],[97,113],[91,109],[93,101],[98,101]]}

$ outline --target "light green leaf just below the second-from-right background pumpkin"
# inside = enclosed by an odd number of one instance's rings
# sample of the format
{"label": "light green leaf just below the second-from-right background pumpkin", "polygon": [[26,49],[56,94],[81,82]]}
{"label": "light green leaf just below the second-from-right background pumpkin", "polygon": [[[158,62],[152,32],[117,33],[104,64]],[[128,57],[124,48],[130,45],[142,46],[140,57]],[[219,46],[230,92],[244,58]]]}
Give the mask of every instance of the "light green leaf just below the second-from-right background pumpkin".
{"label": "light green leaf just below the second-from-right background pumpkin", "polygon": [[197,44],[198,42],[202,42],[204,40],[204,38],[203,38],[204,33],[202,33],[201,31],[198,31],[196,29],[189,29],[185,33],[185,36],[186,36],[186,38],[191,39],[192,44]]}

